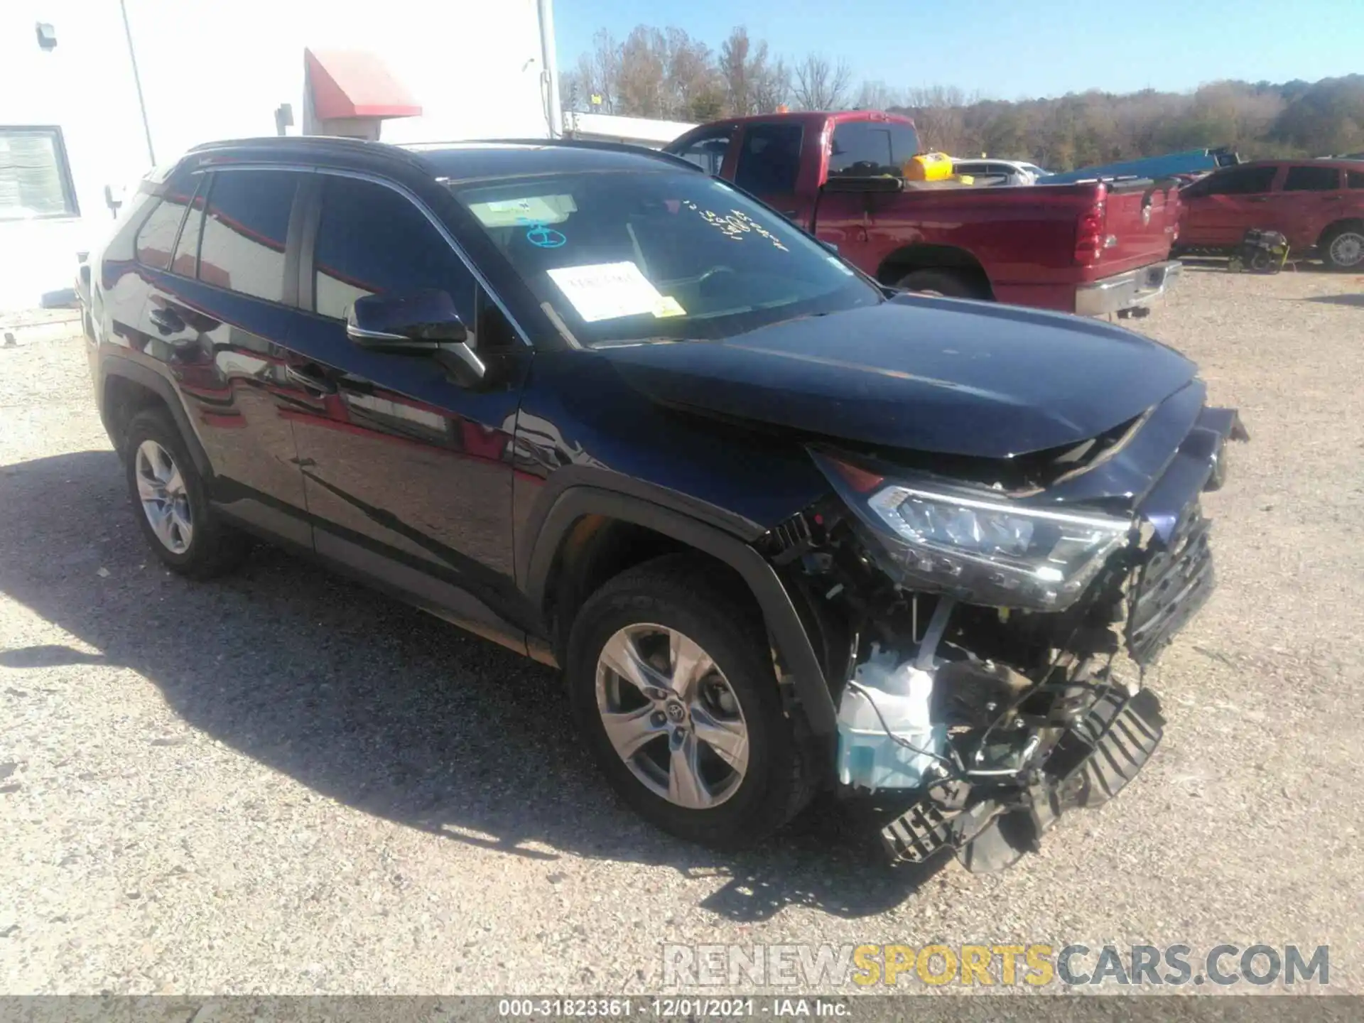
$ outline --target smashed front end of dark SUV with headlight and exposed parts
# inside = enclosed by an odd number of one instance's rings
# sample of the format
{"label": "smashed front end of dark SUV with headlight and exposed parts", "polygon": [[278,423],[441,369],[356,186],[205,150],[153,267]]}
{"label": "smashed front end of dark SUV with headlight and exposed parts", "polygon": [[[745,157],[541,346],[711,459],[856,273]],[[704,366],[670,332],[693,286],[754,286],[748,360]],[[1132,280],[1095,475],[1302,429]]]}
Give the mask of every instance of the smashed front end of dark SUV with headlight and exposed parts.
{"label": "smashed front end of dark SUV with headlight and exposed parts", "polygon": [[824,638],[840,788],[893,861],[1008,866],[1143,767],[1144,670],[1213,589],[1200,496],[1244,439],[1195,379],[1013,460],[810,445],[833,492],[761,546]]}

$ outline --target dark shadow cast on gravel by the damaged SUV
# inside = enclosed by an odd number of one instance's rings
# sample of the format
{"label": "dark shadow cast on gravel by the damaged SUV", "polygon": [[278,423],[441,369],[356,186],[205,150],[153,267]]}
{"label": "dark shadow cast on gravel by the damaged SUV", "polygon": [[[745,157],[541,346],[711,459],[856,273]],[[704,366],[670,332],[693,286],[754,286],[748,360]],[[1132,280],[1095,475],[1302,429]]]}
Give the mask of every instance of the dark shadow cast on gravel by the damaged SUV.
{"label": "dark shadow cast on gravel by the damaged SUV", "polygon": [[0,591],[101,651],[0,666],[132,668],[194,728],[364,813],[507,855],[724,877],[701,906],[743,922],[881,913],[947,862],[889,868],[832,799],[738,854],[656,832],[599,777],[555,672],[273,548],[218,582],[172,576],[112,451],[0,469]]}

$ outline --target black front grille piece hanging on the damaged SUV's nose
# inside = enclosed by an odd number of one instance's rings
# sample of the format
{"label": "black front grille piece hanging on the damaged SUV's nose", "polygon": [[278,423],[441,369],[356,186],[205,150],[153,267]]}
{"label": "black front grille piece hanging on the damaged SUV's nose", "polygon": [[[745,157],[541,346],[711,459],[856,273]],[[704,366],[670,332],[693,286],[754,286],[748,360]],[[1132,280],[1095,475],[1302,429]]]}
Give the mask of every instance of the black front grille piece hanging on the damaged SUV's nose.
{"label": "black front grille piece hanging on the damaged SUV's nose", "polygon": [[1155,662],[1198,612],[1215,582],[1211,522],[1194,505],[1168,544],[1154,544],[1140,569],[1127,625],[1127,648],[1142,666]]}

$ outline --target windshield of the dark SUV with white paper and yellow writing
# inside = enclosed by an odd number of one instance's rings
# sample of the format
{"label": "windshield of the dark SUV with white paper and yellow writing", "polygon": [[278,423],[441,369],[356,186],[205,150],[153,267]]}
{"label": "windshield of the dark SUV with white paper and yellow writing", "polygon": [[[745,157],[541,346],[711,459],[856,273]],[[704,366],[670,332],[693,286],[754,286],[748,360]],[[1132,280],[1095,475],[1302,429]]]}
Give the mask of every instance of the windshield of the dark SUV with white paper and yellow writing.
{"label": "windshield of the dark SUV with white paper and yellow writing", "polygon": [[805,232],[705,175],[449,187],[580,344],[716,340],[884,301]]}

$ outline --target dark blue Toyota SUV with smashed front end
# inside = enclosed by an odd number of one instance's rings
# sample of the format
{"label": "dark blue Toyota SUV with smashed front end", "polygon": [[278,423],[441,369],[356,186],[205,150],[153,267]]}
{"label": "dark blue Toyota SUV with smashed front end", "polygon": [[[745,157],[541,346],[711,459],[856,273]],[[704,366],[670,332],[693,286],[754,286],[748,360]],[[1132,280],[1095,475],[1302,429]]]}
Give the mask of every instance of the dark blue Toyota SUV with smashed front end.
{"label": "dark blue Toyota SUV with smashed front end", "polygon": [[828,241],[621,146],[210,145],[91,259],[90,367],[170,569],[263,537],[561,667],[681,836],[832,788],[1003,866],[1159,741],[1244,431],[1169,348]]}

